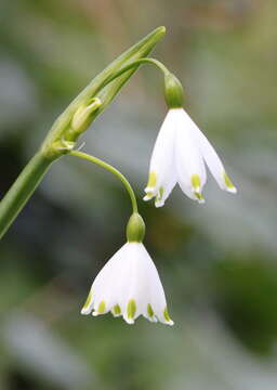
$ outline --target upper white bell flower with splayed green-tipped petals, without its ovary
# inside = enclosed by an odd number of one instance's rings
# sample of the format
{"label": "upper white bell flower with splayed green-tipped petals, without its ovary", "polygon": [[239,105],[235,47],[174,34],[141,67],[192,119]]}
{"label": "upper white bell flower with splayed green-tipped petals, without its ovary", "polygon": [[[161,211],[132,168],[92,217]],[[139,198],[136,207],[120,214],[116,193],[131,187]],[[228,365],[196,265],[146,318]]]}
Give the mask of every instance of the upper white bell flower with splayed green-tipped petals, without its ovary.
{"label": "upper white bell flower with splayed green-tipped petals, without its ovary", "polygon": [[205,203],[201,191],[206,165],[222,190],[236,193],[223,164],[208,139],[183,108],[171,108],[156,140],[144,200],[164,205],[176,183],[192,199]]}

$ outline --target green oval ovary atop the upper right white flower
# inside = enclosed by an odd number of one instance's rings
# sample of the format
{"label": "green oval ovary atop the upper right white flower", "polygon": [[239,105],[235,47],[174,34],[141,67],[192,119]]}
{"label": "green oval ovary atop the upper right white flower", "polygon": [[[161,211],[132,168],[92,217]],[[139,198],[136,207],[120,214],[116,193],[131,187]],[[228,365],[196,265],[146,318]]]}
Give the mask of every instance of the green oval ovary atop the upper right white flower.
{"label": "green oval ovary atop the upper right white flower", "polygon": [[179,79],[171,73],[164,76],[164,95],[169,108],[183,107],[184,89]]}

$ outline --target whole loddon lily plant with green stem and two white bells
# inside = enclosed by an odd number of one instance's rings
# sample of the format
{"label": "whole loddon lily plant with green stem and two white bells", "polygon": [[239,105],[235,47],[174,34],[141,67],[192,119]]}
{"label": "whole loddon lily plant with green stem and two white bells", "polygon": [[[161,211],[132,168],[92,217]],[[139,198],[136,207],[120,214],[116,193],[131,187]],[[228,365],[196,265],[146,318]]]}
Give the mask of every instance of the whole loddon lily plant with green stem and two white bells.
{"label": "whole loddon lily plant with green stem and two white bells", "polygon": [[222,190],[237,191],[214,147],[185,112],[181,82],[161,62],[148,57],[164,32],[164,27],[150,32],[81,91],[56,119],[36,155],[0,203],[0,237],[3,237],[51,165],[64,155],[96,164],[115,174],[124,185],[132,205],[127,242],[96,275],[81,313],[97,316],[110,312],[115,317],[122,316],[128,324],[134,324],[140,315],[153,323],[173,325],[173,321],[169,316],[158,271],[143,244],[145,223],[131,184],[115,167],[79,151],[76,145],[79,136],[141,65],[154,65],[162,73],[169,108],[154,146],[144,199],[155,198],[156,207],[161,207],[179,183],[185,195],[205,203],[206,166]]}

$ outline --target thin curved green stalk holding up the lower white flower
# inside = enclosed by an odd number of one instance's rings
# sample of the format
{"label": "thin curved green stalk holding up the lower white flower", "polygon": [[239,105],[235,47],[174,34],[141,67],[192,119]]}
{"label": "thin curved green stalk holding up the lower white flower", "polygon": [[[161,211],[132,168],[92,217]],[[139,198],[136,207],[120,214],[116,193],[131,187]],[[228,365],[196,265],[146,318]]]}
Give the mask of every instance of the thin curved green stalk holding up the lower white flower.
{"label": "thin curved green stalk holding up the lower white flower", "polygon": [[101,166],[101,167],[105,168],[106,170],[108,170],[109,172],[114,173],[123,183],[126,190],[128,191],[130,198],[131,198],[133,212],[137,212],[137,203],[136,203],[136,198],[135,198],[133,188],[132,188],[131,184],[129,183],[129,181],[126,179],[126,177],[121,172],[119,172],[119,170],[114,168],[111,165],[101,160],[100,158],[91,156],[87,153],[82,153],[79,151],[71,151],[69,153],[69,155],[89,160],[93,164],[97,164],[98,166]]}

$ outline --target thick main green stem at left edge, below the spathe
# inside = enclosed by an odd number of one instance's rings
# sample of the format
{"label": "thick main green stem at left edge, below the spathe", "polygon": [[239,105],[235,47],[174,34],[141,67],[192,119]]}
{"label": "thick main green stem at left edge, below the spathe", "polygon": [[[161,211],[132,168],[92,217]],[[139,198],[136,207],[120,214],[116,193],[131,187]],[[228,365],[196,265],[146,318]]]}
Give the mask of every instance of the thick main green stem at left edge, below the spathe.
{"label": "thick main green stem at left edge, below the spathe", "polygon": [[52,161],[53,158],[48,158],[38,152],[3,197],[0,203],[0,238],[32,195]]}

